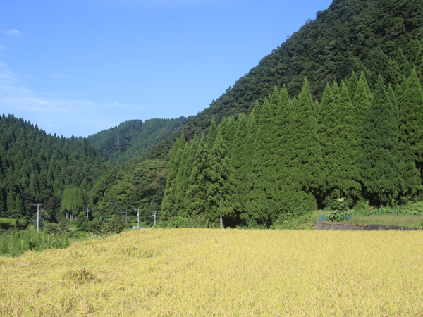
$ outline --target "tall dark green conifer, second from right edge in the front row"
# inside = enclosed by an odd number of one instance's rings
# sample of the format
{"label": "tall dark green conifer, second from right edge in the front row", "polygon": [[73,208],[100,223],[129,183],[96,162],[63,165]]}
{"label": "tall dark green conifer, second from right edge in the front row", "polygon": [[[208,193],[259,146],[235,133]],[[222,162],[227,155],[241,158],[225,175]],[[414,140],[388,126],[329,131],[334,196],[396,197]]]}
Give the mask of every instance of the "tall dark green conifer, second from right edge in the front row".
{"label": "tall dark green conifer, second from right edge in the front row", "polygon": [[362,180],[372,203],[390,204],[402,189],[398,128],[384,81],[379,76],[364,116]]}

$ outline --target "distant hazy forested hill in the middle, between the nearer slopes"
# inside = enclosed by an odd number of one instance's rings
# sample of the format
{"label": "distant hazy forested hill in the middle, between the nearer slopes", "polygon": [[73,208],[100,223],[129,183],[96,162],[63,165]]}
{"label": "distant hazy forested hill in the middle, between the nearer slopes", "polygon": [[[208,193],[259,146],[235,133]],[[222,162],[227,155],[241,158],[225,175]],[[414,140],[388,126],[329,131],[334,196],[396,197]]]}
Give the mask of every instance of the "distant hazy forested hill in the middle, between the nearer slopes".
{"label": "distant hazy forested hill in the middle, between the nearer slopes", "polygon": [[185,117],[178,119],[129,120],[90,135],[88,141],[111,165],[128,164],[169,134],[182,130]]}

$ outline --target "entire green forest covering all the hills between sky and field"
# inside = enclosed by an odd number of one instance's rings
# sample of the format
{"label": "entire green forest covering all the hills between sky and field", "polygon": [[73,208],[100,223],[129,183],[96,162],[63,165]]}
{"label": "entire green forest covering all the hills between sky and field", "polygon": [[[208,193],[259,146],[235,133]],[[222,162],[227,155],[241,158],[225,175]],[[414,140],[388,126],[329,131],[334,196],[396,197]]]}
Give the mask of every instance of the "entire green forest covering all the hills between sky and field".
{"label": "entire green forest covering all the hills between sky and field", "polygon": [[42,202],[81,228],[134,209],[151,224],[153,208],[168,223],[269,228],[335,198],[419,199],[422,16],[417,0],[335,0],[190,118],[66,139],[3,116],[1,217]]}

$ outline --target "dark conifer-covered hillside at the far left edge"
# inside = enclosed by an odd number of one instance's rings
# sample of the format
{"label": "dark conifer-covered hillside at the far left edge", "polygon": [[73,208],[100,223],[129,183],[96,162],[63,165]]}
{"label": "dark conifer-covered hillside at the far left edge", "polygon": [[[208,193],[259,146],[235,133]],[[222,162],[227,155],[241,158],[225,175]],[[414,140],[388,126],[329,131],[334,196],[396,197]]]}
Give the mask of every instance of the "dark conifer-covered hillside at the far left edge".
{"label": "dark conifer-covered hillside at the far left edge", "polygon": [[0,118],[0,218],[32,217],[33,204],[42,203],[54,219],[66,192],[73,192],[75,211],[86,209],[107,168],[87,139],[47,135],[13,115]]}

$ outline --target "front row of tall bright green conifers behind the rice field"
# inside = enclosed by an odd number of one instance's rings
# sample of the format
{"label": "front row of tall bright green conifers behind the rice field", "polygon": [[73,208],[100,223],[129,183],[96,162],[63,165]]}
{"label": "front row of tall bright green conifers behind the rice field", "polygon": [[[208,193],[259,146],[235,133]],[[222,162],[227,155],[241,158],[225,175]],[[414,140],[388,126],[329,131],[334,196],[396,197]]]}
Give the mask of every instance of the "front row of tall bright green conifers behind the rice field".
{"label": "front row of tall bright green conifers behind the rice field", "polygon": [[285,86],[249,117],[213,119],[207,139],[182,135],[173,148],[162,218],[202,214],[218,224],[269,227],[345,198],[350,208],[416,199],[422,192],[422,43],[407,57],[382,51],[373,71],[353,72],[312,100]]}

